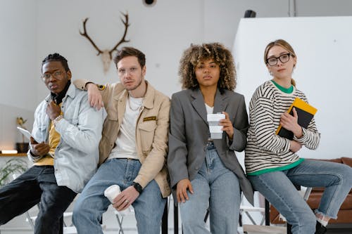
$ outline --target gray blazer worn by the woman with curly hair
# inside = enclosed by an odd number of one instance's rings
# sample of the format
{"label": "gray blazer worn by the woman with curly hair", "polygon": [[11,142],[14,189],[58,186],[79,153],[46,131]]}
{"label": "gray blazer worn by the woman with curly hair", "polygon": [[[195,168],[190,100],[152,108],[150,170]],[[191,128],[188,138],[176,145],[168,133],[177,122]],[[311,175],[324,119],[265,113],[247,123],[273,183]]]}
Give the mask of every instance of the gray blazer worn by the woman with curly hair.
{"label": "gray blazer worn by the woman with curly hair", "polygon": [[[225,167],[236,174],[246,199],[253,204],[253,188],[234,153],[234,150],[244,150],[247,142],[249,122],[244,96],[228,90],[221,94],[218,90],[213,112],[222,111],[229,114],[234,126],[234,141],[231,142],[224,132],[222,139],[214,140],[215,148]],[[192,181],[206,157],[206,144],[210,136],[206,115],[199,89],[186,89],[172,95],[168,169],[174,197],[178,181],[184,178]]]}

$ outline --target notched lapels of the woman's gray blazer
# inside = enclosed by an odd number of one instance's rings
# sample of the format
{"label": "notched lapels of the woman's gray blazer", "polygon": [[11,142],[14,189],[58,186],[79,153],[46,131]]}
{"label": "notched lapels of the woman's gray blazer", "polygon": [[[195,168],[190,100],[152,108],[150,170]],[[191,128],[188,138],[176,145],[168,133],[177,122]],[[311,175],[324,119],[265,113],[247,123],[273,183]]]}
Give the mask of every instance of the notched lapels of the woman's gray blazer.
{"label": "notched lapels of the woman's gray blazer", "polygon": [[[225,108],[227,106],[226,92],[227,91],[221,94],[219,89],[216,91],[213,113],[225,111]],[[201,116],[204,122],[208,124],[206,120],[206,115],[207,115],[206,105],[204,103],[204,98],[203,98],[203,95],[201,94],[201,90],[200,89],[191,90],[191,97],[194,98],[194,100],[191,101],[191,104],[193,105],[194,109]]]}

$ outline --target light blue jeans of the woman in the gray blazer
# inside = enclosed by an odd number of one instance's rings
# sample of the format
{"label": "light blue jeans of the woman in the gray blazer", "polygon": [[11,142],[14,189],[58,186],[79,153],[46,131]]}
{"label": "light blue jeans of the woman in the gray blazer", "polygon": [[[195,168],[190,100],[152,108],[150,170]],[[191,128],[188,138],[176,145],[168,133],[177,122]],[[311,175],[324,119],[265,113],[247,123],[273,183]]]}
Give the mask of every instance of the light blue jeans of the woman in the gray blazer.
{"label": "light blue jeans of the woman in the gray blazer", "polygon": [[209,233],[204,223],[208,208],[211,233],[237,233],[241,202],[239,180],[222,164],[213,143],[208,143],[206,159],[191,184],[194,194],[187,191],[189,200],[179,204],[184,234]]}

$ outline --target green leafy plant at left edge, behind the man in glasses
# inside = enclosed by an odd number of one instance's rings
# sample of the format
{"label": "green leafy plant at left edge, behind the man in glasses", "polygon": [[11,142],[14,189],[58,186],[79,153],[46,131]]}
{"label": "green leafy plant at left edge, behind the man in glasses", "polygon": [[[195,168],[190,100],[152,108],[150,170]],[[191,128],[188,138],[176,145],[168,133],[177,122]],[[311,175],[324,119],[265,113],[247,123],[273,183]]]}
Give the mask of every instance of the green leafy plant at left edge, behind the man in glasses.
{"label": "green leafy plant at left edge, behind the man in glasses", "polygon": [[0,168],[0,187],[4,186],[8,181],[11,181],[11,176],[14,173],[22,174],[27,169],[27,162],[22,159],[13,158],[8,160],[4,167]]}

